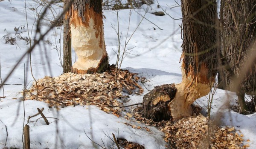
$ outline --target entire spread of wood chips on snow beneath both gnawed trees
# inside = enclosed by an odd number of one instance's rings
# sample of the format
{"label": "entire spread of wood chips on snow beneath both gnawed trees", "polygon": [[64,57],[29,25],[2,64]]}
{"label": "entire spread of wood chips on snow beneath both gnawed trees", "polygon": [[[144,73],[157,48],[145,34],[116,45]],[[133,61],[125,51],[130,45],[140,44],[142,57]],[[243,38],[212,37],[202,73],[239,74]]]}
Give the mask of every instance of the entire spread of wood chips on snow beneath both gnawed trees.
{"label": "entire spread of wood chips on snow beneath both gnawed trees", "polygon": [[[138,81],[145,78],[140,78],[136,73],[131,73],[128,70],[120,71],[116,77],[115,74],[115,70],[112,70],[102,74],[66,73],[58,77],[44,77],[37,80],[37,86],[36,83],[33,83],[33,86],[26,90],[25,100],[44,101],[49,103],[50,107],[54,106],[57,109],[64,106],[96,105],[117,117],[124,116],[128,120],[135,118],[139,123],[156,126],[163,131],[165,133],[164,140],[168,143],[166,148],[244,149],[249,147],[248,143],[245,145],[243,143],[250,140],[244,141],[241,132],[237,132],[234,127],[220,128],[212,122],[208,124],[207,117],[201,114],[194,114],[194,116],[177,121],[163,120],[160,122],[142,117],[140,108],[134,113],[121,115],[122,108],[114,106],[122,106],[128,95],[140,95],[143,89]],[[151,132],[147,127],[140,128],[140,126],[129,123],[125,124],[134,129],[146,129]],[[124,148],[143,149],[143,146],[139,144],[118,139],[119,144]]]}

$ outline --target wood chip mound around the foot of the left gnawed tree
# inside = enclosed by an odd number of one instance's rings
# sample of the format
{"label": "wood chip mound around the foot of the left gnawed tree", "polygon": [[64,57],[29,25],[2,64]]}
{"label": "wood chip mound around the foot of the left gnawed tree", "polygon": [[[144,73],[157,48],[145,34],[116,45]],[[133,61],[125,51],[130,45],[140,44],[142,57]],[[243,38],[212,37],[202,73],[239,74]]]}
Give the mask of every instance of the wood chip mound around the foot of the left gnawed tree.
{"label": "wood chip mound around the foot of the left gnawed tree", "polygon": [[[140,78],[128,70],[121,70],[115,79],[115,72],[102,74],[65,73],[58,77],[44,77],[33,83],[26,92],[26,100],[39,100],[55,108],[75,105],[97,105],[105,112],[119,116],[123,93],[141,94],[143,89],[137,83]],[[38,89],[38,97],[36,96]]]}

